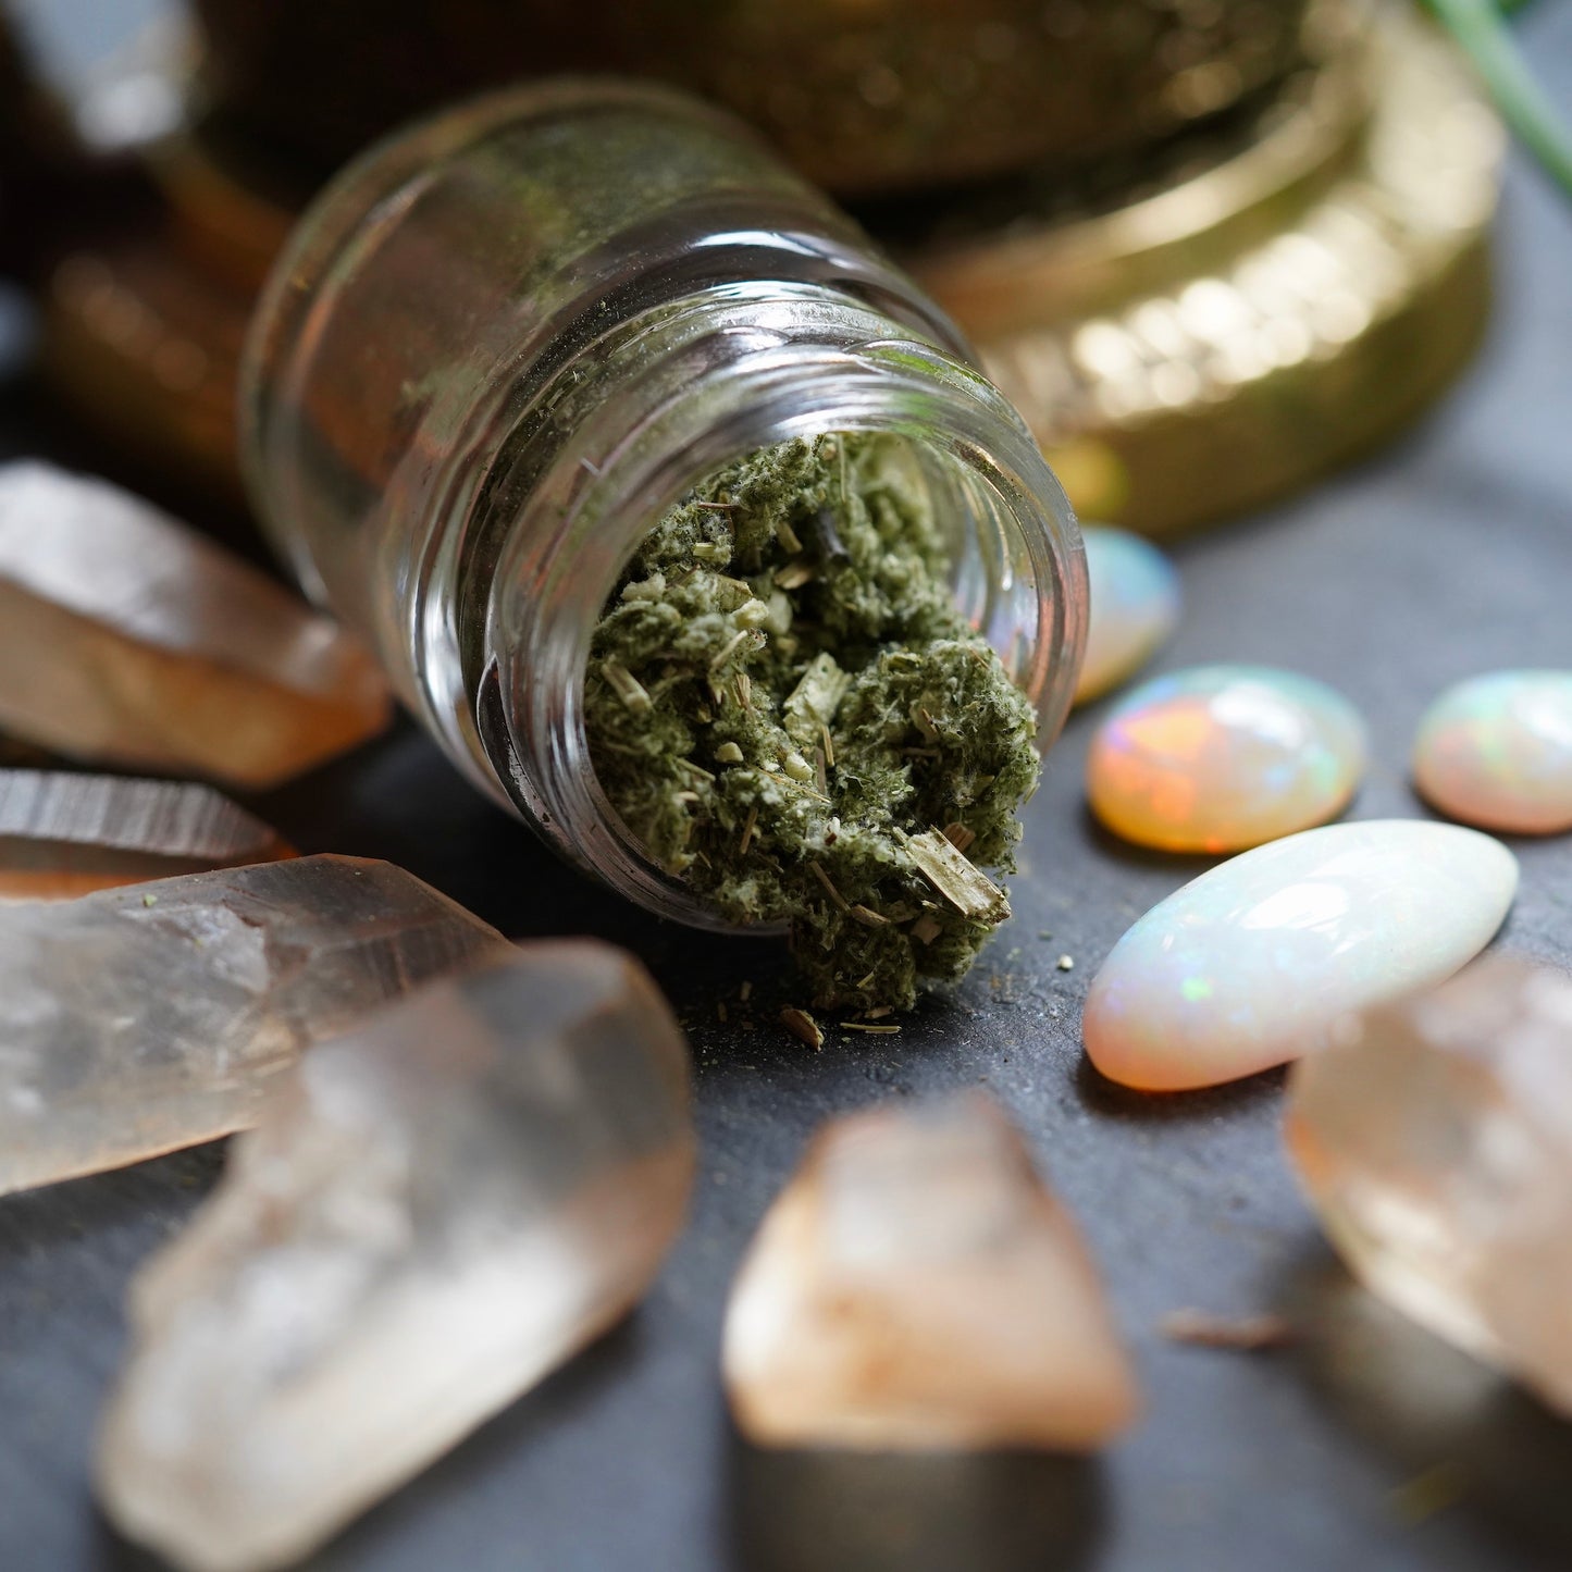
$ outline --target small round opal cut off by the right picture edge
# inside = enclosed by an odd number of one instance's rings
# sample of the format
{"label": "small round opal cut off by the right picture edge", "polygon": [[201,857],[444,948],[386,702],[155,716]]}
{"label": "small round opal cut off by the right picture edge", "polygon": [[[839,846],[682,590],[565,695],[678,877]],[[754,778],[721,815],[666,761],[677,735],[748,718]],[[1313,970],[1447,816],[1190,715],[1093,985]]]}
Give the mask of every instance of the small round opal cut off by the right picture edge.
{"label": "small round opal cut off by the right picture edge", "polygon": [[1420,722],[1413,780],[1465,824],[1572,830],[1572,671],[1492,671],[1448,689]]}

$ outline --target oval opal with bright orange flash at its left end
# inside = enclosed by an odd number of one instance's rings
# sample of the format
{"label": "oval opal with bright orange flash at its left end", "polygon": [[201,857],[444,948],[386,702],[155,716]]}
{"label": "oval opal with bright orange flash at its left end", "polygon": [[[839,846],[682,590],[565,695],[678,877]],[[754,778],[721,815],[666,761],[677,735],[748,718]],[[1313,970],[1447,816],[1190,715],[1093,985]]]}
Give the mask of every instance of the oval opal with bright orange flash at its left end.
{"label": "oval opal with bright orange flash at its left end", "polygon": [[1099,726],[1093,811],[1165,852],[1237,852],[1322,824],[1364,773],[1364,725],[1322,682],[1192,667],[1144,682]]}

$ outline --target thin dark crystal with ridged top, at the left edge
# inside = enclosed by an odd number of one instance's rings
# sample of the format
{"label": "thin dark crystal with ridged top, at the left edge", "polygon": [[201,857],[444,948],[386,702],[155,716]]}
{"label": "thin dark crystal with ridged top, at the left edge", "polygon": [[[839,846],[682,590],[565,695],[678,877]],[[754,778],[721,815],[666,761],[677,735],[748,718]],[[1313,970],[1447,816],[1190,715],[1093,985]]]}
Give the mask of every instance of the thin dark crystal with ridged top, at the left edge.
{"label": "thin dark crystal with ridged top, at the left edge", "polygon": [[63,899],[294,857],[209,786],[0,770],[0,901]]}

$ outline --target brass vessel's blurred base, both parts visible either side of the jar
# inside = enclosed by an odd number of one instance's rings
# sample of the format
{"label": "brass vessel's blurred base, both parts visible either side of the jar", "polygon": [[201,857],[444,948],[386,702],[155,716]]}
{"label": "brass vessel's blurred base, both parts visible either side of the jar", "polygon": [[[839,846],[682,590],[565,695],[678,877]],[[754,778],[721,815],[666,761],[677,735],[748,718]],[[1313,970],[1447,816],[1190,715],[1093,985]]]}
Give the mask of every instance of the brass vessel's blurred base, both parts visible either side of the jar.
{"label": "brass vessel's blurred base, both parts visible either side of the jar", "polygon": [[[1413,417],[1482,330],[1503,135],[1464,66],[1407,8],[1371,24],[1350,0],[1314,0],[1295,58],[1138,157],[863,208],[1085,517],[1165,534],[1308,484]],[[230,490],[245,316],[308,187],[275,152],[209,116],[152,156],[162,226],[50,281],[57,384]]]}

